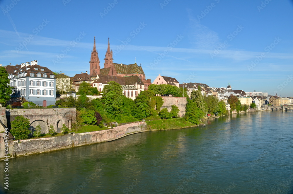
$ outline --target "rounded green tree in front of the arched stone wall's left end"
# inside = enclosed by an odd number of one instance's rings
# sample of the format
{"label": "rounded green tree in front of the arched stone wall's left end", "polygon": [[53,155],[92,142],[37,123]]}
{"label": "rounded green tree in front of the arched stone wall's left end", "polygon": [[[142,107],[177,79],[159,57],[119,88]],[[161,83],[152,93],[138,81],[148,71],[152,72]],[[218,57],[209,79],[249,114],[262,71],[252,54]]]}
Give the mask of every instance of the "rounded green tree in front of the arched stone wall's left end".
{"label": "rounded green tree in front of the arched stone wall's left end", "polygon": [[11,122],[11,134],[16,139],[28,139],[28,135],[31,131],[28,129],[30,127],[30,120],[21,116],[16,116],[15,120]]}

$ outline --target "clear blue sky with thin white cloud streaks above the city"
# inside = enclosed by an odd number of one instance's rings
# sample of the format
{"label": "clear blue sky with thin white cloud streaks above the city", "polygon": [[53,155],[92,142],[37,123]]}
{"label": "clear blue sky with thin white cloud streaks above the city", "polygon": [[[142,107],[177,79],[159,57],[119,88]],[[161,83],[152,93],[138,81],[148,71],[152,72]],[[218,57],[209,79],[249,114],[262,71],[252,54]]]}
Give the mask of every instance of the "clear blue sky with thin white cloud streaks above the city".
{"label": "clear blue sky with thin white cloud streaks above the city", "polygon": [[110,37],[114,62],[136,58],[152,81],[230,81],[235,90],[293,96],[289,0],[0,0],[0,8],[2,65],[38,60],[74,76],[89,71],[93,36],[103,68]]}

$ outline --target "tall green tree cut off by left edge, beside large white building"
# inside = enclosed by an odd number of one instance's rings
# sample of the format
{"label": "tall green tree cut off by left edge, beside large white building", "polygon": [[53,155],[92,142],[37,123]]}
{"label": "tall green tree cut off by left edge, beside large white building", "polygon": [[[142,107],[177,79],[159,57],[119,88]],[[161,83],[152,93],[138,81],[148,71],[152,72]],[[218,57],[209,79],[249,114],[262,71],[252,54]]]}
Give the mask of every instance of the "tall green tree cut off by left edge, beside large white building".
{"label": "tall green tree cut off by left edge, beside large white building", "polygon": [[8,79],[8,73],[4,67],[0,67],[0,105],[6,106],[7,101],[12,93],[12,87],[10,87],[10,80]]}

